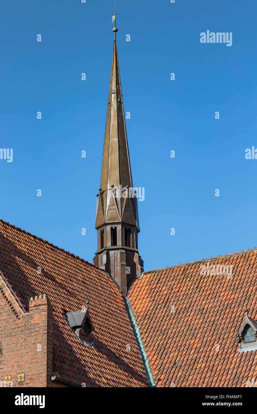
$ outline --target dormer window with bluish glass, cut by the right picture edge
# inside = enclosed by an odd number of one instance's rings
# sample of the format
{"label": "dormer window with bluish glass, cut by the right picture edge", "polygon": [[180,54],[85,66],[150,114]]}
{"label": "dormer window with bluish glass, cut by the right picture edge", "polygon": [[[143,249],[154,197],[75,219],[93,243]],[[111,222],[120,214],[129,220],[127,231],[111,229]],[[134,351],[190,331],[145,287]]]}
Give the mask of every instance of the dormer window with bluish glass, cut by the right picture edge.
{"label": "dormer window with bluish glass, cut by the right picture edge", "polygon": [[257,349],[257,322],[249,318],[248,309],[245,309],[245,320],[238,332],[239,341],[241,342],[239,352],[254,351]]}

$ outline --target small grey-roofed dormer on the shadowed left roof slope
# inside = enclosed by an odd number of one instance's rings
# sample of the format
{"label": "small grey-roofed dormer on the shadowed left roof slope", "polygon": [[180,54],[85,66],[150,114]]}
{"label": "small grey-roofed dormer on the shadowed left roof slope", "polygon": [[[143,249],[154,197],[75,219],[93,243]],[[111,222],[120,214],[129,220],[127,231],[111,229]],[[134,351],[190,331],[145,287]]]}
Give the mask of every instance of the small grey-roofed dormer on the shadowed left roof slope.
{"label": "small grey-roofed dormer on the shadowed left roof slope", "polygon": [[91,343],[90,333],[94,328],[88,312],[88,305],[89,301],[86,301],[86,306],[83,306],[81,310],[66,312],[65,317],[75,334],[83,341]]}

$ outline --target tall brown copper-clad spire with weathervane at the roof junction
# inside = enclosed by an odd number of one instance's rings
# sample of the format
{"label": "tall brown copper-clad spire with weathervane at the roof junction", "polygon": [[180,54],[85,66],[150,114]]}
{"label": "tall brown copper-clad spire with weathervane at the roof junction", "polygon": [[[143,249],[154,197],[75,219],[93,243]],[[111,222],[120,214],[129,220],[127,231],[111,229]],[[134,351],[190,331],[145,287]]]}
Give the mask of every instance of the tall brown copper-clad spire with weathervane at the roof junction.
{"label": "tall brown copper-clad spire with weathervane at the roof junction", "polygon": [[104,151],[99,193],[97,193],[97,252],[94,265],[110,273],[127,294],[127,284],[143,271],[138,254],[139,220],[135,197],[127,132],[120,86],[120,71],[115,39],[111,64]]}

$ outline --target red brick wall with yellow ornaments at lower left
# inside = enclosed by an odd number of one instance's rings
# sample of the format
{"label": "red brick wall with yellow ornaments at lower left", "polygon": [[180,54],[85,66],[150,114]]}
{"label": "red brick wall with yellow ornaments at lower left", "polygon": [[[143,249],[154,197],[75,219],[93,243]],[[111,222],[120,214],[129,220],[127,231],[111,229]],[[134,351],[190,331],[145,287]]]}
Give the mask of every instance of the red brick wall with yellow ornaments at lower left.
{"label": "red brick wall with yellow ornaments at lower left", "polygon": [[[17,317],[0,293],[0,381],[11,375],[13,387],[51,387],[52,306],[46,297],[29,301],[29,313]],[[18,375],[24,374],[24,382]]]}

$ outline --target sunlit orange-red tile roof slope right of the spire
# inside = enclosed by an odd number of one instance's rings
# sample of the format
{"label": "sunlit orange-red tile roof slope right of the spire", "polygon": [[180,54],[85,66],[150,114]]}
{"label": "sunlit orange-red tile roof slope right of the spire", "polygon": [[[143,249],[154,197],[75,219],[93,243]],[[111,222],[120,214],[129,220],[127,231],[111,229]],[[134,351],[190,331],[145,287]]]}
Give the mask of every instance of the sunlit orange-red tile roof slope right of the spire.
{"label": "sunlit orange-red tile roof slope right of the spire", "polygon": [[[216,267],[207,272],[207,262]],[[217,265],[232,267],[220,274]],[[257,351],[239,353],[237,338],[246,307],[257,320],[256,265],[255,248],[134,281],[128,296],[156,386],[245,387],[257,378]]]}

